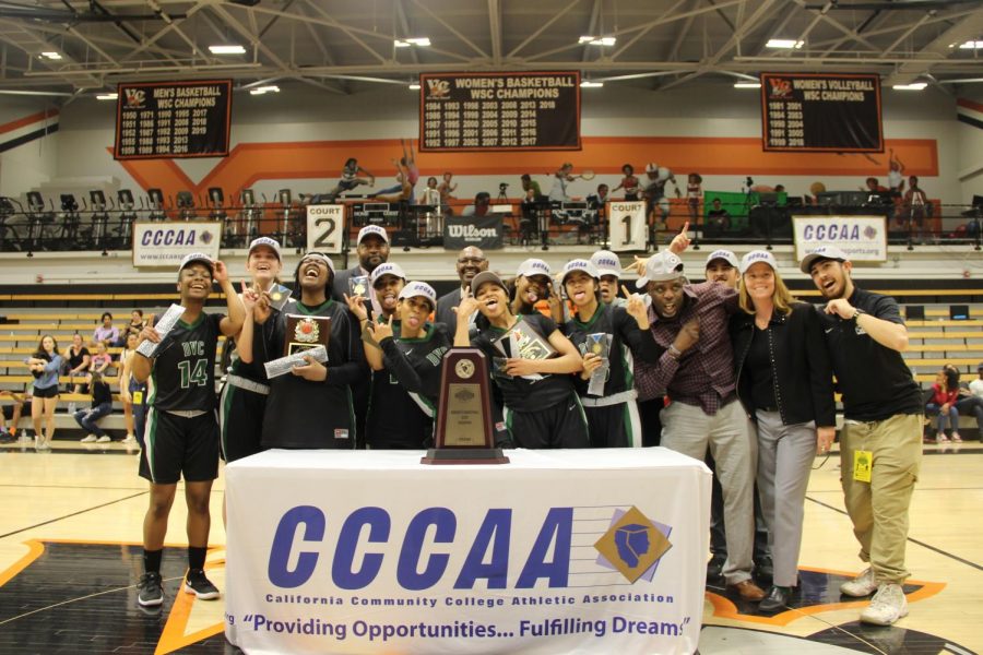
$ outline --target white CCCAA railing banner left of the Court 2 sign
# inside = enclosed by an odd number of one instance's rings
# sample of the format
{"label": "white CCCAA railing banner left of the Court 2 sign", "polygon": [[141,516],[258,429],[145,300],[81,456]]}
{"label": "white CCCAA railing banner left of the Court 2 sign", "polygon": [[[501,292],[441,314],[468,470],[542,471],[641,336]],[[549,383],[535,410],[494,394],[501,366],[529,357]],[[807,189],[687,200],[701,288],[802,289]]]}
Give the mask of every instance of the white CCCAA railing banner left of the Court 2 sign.
{"label": "white CCCAA railing banner left of the Court 2 sign", "polygon": [[186,254],[218,259],[221,223],[161,222],[133,224],[134,266],[177,266]]}

